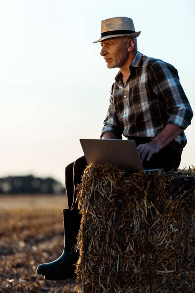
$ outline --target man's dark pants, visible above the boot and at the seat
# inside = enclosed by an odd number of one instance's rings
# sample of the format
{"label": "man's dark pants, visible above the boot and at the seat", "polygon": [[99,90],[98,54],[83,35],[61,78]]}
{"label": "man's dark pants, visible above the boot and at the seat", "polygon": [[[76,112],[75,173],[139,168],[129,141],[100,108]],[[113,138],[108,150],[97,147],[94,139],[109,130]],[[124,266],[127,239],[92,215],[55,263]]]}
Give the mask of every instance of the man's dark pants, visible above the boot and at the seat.
{"label": "man's dark pants, visible above the boot and at the seat", "polygon": [[[146,142],[141,142],[146,143]],[[136,142],[137,146],[140,143]],[[179,167],[181,161],[180,153],[170,147],[165,146],[159,151],[159,153],[154,154],[150,161],[143,162],[143,168],[163,168],[164,171],[170,171]],[[76,187],[78,183],[81,182],[81,175],[87,166],[87,161],[85,157],[78,158],[75,162],[69,164],[65,168],[65,185],[67,193],[67,201],[69,209],[78,209],[77,190]]]}

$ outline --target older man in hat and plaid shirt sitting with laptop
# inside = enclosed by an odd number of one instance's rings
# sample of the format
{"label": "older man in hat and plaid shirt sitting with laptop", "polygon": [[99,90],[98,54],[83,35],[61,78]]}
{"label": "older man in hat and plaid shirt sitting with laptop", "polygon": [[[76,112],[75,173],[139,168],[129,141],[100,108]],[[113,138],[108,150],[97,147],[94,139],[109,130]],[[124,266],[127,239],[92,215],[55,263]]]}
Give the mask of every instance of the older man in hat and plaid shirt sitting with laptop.
{"label": "older man in hat and plaid shirt sitting with laptop", "polygon": [[[138,52],[139,35],[130,18],[111,18],[101,23],[101,37],[96,41],[101,43],[100,54],[108,68],[120,69],[112,85],[101,138],[122,139],[123,134],[135,140],[143,167],[176,169],[187,143],[183,130],[191,124],[193,111],[176,68]],[[47,279],[74,275],[72,264],[78,255],[72,246],[80,223],[76,187],[86,165],[85,157],[81,157],[65,169],[69,207],[63,210],[66,245],[58,260],[39,265],[37,272]]]}

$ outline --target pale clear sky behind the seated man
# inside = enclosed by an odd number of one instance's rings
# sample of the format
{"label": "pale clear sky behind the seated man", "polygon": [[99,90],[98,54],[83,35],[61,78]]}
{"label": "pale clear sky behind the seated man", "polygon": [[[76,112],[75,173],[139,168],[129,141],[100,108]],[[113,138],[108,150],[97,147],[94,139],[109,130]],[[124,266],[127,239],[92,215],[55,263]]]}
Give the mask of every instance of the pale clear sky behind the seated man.
{"label": "pale clear sky behind the seated man", "polygon": [[[138,50],[173,64],[195,112],[194,0],[0,0],[0,177],[64,182],[99,138],[118,69],[99,55],[101,21],[134,21]],[[180,167],[195,165],[195,118]]]}

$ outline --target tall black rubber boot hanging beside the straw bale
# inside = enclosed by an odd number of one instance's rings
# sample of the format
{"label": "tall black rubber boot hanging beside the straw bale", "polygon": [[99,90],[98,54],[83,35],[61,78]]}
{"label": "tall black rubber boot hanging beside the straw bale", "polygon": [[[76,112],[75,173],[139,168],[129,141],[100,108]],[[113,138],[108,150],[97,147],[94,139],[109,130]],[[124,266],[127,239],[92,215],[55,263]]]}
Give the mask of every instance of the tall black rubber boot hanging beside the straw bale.
{"label": "tall black rubber boot hanging beside the straw bale", "polygon": [[78,252],[75,251],[77,235],[80,227],[81,215],[78,210],[63,209],[64,222],[64,250],[55,261],[40,264],[37,273],[47,280],[66,280],[76,276],[75,264],[78,260]]}

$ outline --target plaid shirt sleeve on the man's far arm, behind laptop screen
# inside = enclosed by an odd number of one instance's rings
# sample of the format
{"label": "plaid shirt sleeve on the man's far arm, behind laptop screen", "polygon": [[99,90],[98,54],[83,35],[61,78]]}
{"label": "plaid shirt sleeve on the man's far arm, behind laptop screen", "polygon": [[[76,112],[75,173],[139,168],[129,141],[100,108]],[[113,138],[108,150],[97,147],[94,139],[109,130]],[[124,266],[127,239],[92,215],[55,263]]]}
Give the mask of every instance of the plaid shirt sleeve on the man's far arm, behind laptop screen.
{"label": "plaid shirt sleeve on the man's far arm, behind laptop screen", "polygon": [[114,132],[117,135],[118,139],[122,139],[122,131],[120,128],[120,121],[118,119],[118,116],[117,116],[117,113],[115,110],[115,106],[113,104],[112,91],[113,91],[113,86],[112,86],[112,90],[111,90],[108,112],[107,112],[106,118],[103,122],[103,127],[101,129],[100,138],[102,138],[102,136],[105,132]]}

